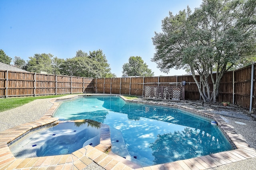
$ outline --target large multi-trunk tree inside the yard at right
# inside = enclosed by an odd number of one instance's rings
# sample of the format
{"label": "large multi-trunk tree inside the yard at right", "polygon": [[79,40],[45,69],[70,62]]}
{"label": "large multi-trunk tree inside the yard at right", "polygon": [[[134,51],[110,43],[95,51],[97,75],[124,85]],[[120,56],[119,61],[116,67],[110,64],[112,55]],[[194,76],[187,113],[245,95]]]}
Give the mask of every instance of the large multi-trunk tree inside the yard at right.
{"label": "large multi-trunk tree inside the yard at right", "polygon": [[224,73],[256,52],[255,11],[256,0],[203,0],[193,13],[190,8],[176,16],[170,12],[162,21],[162,33],[152,38],[152,61],[166,73],[189,68],[204,102],[215,103]]}

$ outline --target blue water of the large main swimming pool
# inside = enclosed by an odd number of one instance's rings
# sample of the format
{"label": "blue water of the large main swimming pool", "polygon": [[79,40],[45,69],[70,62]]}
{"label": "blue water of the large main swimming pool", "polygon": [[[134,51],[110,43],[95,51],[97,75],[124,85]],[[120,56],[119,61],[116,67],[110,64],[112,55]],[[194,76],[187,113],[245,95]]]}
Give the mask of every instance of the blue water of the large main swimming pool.
{"label": "blue water of the large main swimming pool", "polygon": [[210,119],[179,109],[126,103],[119,97],[63,102],[54,117],[92,119],[109,125],[112,152],[142,166],[233,149]]}

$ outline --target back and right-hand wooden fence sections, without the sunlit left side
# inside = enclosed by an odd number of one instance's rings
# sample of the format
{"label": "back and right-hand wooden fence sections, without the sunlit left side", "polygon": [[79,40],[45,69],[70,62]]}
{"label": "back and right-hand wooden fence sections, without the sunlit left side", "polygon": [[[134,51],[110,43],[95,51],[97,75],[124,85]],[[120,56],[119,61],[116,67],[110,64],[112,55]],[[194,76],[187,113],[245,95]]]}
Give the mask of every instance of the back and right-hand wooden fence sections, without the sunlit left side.
{"label": "back and right-hand wooden fence sections, without the sunlit left side", "polygon": [[[239,70],[226,72],[220,82],[217,102],[230,102],[248,109],[252,105],[253,108],[256,108],[255,77],[255,63]],[[196,79],[199,83],[201,82],[200,76],[196,76]],[[185,100],[201,100],[198,87],[191,75],[96,78],[94,79],[94,92],[144,96],[146,86],[181,86],[182,82],[185,83]],[[209,79],[209,84],[210,93],[212,93],[213,84],[211,79]]]}

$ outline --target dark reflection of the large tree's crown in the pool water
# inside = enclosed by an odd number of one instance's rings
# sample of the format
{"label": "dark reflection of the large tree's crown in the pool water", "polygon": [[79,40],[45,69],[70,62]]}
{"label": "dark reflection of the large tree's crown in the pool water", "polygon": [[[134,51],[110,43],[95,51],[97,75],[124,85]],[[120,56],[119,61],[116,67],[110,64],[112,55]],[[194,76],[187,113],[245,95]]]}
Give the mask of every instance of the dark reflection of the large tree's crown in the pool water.
{"label": "dark reflection of the large tree's crown in the pool water", "polygon": [[220,152],[220,143],[208,133],[198,133],[186,127],[182,132],[158,135],[150,148],[156,164],[162,164]]}

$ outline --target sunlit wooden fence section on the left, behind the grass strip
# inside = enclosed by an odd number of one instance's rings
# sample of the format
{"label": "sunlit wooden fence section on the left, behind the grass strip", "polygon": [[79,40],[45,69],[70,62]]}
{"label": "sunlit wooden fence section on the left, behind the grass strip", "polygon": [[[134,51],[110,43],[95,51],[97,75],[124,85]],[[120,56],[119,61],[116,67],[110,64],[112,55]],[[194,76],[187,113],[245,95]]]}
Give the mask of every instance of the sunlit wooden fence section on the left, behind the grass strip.
{"label": "sunlit wooden fence section on the left, behind the grass strip", "polygon": [[0,70],[0,97],[93,92],[93,78]]}

